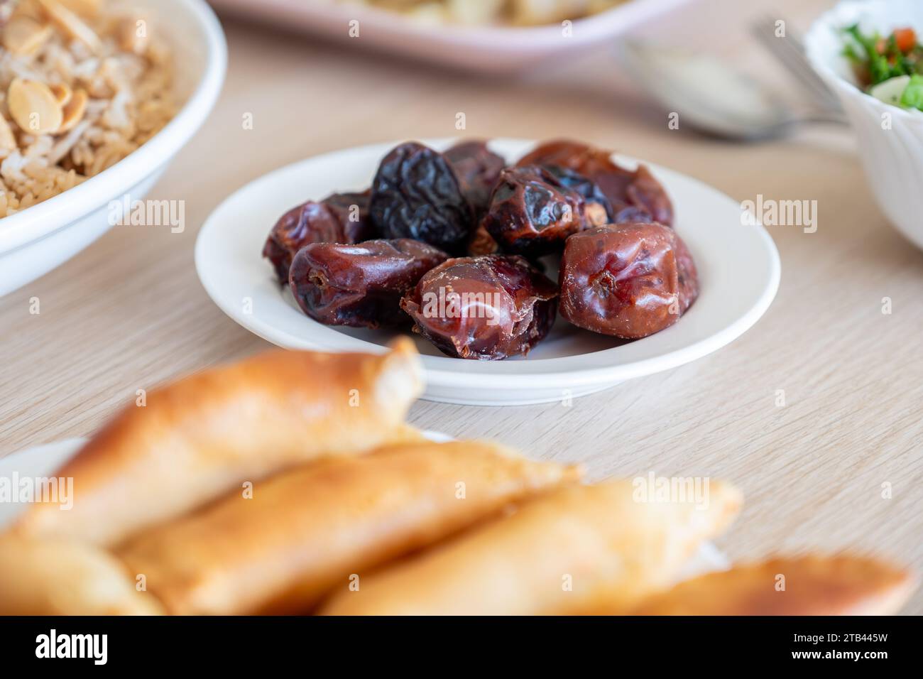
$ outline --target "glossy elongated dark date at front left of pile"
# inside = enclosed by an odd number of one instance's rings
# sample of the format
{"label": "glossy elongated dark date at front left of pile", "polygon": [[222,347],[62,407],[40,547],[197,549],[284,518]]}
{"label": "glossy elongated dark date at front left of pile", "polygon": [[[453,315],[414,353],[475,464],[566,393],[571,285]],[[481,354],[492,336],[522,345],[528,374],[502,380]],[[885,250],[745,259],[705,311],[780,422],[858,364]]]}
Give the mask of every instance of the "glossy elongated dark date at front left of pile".
{"label": "glossy elongated dark date at front left of pile", "polygon": [[402,325],[409,320],[401,297],[448,257],[410,238],[312,243],[294,256],[289,282],[298,306],[315,321],[363,328]]}

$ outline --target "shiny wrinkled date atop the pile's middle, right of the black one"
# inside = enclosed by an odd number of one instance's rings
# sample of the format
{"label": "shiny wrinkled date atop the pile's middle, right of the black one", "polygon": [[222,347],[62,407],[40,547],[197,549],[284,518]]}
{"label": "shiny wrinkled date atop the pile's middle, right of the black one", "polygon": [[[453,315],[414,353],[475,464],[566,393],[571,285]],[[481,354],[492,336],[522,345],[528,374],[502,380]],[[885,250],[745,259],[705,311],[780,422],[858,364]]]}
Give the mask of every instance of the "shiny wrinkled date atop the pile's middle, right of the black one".
{"label": "shiny wrinkled date atop the pile's middle, right of the black one", "polygon": [[481,223],[505,252],[538,257],[564,248],[587,226],[586,203],[540,165],[500,174]]}

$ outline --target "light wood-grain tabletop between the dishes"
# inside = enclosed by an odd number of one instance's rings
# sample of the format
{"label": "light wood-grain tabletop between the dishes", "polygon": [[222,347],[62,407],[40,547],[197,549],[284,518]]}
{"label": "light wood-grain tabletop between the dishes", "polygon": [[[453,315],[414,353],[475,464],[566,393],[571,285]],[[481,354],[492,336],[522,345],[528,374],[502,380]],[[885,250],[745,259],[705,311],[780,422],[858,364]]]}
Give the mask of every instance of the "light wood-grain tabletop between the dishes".
{"label": "light wood-grain tabletop between the dishes", "polygon": [[[771,3],[802,27],[827,4]],[[699,3],[657,32],[777,78],[747,38],[757,5]],[[885,223],[845,129],[751,146],[669,130],[665,115],[623,87],[607,53],[509,81],[238,21],[226,30],[222,99],[151,195],[186,200],[186,230],[116,227],[0,299],[0,455],[88,435],[139,388],[266,347],[210,302],[193,266],[198,226],[228,193],[316,153],[454,135],[462,111],[470,136],[576,136],[738,200],[818,200],[819,228],[771,229],[782,255],[778,297],[708,358],[570,407],[420,402],[414,423],[581,460],[596,478],[653,470],[731,479],[747,506],[720,544],[736,559],[850,546],[923,571],[923,252]],[[39,315],[30,314],[32,297]],[[882,313],[883,297],[893,313]],[[776,405],[779,390],[785,406]],[[885,483],[891,499],[882,498]],[[923,613],[923,594],[905,610]]]}

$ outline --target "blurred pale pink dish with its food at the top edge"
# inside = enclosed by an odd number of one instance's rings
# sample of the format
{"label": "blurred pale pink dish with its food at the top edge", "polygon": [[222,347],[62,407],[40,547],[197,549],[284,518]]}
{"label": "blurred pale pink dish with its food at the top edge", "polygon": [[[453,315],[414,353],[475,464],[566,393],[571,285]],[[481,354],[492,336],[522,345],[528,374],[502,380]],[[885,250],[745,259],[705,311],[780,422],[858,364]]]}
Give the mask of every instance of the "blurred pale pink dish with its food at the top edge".
{"label": "blurred pale pink dish with its food at the top edge", "polygon": [[550,57],[580,53],[689,2],[211,0],[229,14],[288,30],[431,64],[494,73],[519,71]]}

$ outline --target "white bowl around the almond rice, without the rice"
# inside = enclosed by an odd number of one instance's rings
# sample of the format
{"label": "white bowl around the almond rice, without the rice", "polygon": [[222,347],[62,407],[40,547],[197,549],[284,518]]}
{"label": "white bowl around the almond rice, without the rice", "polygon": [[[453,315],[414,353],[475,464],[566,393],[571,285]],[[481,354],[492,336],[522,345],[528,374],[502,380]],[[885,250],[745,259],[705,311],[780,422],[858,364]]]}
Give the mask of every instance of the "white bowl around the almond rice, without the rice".
{"label": "white bowl around the almond rice, without the rice", "polygon": [[162,18],[163,38],[174,49],[176,93],[185,103],[166,127],[124,160],[0,220],[0,296],[48,273],[109,230],[109,202],[126,194],[142,200],[218,99],[227,46],[204,0],[133,0],[132,5]]}

